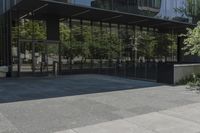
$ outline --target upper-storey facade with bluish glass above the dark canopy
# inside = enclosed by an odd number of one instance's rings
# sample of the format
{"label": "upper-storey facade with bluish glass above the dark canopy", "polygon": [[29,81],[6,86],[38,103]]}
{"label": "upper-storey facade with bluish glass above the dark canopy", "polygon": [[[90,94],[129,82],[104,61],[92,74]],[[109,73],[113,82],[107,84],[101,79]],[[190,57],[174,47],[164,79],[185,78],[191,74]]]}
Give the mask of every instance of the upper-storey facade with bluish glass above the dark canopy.
{"label": "upper-storey facade with bluish glass above the dark canopy", "polygon": [[75,5],[196,23],[199,0],[56,0]]}

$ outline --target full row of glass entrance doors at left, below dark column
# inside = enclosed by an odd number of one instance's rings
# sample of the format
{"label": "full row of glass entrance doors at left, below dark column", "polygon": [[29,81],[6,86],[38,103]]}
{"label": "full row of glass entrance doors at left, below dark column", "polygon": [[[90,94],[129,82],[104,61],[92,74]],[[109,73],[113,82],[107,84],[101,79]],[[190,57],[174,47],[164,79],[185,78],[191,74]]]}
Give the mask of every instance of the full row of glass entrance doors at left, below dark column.
{"label": "full row of glass entrance doors at left, below dark column", "polygon": [[15,61],[15,71],[19,76],[49,76],[58,73],[58,41],[20,40],[19,48],[14,52],[18,59]]}

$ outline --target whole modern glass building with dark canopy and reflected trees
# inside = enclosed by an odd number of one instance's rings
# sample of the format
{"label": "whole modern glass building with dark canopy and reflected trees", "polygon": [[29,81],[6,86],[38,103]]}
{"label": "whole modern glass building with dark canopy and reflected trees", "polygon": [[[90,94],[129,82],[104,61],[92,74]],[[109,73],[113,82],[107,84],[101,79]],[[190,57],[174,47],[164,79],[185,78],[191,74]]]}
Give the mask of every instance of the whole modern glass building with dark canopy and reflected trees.
{"label": "whole modern glass building with dark canopy and reflected trees", "polygon": [[[185,58],[178,35],[198,0],[1,0],[0,65],[8,76],[95,73],[158,80]],[[162,64],[162,65],[160,65]]]}

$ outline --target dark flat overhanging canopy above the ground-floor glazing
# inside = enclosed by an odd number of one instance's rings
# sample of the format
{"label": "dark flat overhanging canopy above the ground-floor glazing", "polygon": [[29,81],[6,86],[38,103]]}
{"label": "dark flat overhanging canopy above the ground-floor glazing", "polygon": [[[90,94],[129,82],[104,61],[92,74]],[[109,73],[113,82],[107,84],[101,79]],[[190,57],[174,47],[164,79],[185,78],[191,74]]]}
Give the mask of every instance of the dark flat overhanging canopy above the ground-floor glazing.
{"label": "dark flat overhanging canopy above the ground-floor glazing", "polygon": [[185,22],[97,9],[53,0],[22,0],[12,8],[12,11],[14,19],[32,18],[37,20],[46,20],[51,17],[58,19],[72,18],[114,24],[137,25],[169,33],[183,33],[186,31],[186,28],[193,28],[196,26],[195,24]]}

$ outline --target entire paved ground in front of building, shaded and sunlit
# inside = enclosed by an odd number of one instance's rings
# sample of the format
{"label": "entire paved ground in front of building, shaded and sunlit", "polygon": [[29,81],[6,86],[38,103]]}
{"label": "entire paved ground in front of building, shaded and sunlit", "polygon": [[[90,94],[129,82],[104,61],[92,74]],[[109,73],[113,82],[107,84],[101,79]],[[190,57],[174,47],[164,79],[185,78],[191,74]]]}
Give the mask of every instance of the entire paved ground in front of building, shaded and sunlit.
{"label": "entire paved ground in front of building, shaded and sunlit", "polygon": [[0,133],[200,133],[200,95],[103,75],[2,79]]}

